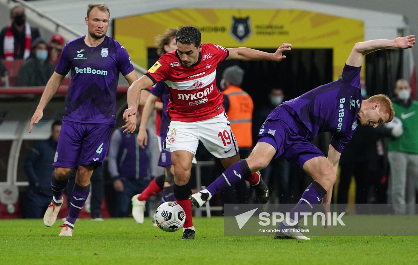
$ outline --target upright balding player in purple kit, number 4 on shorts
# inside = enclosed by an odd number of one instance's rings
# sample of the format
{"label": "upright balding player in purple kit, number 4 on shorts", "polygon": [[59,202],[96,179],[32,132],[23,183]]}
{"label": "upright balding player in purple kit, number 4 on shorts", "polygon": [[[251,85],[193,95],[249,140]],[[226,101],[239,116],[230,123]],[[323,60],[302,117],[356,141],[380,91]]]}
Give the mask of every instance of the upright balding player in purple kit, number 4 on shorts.
{"label": "upright balding player in purple kit, number 4 on shorts", "polygon": [[[51,176],[54,197],[43,217],[46,226],[54,225],[68,176],[76,169],[70,209],[64,225],[59,226],[62,227],[60,236],[73,235],[74,223],[90,192],[90,177],[107,154],[110,134],[116,124],[119,73],[129,84],[138,79],[125,48],[106,36],[109,17],[106,5],[88,6],[85,18],[88,34],[65,45],[29,127],[31,132],[33,124],[42,118],[46,104],[71,70],[71,86],[52,164],[55,166]],[[136,124],[136,116],[127,122],[127,126],[132,126],[133,122]]]}

